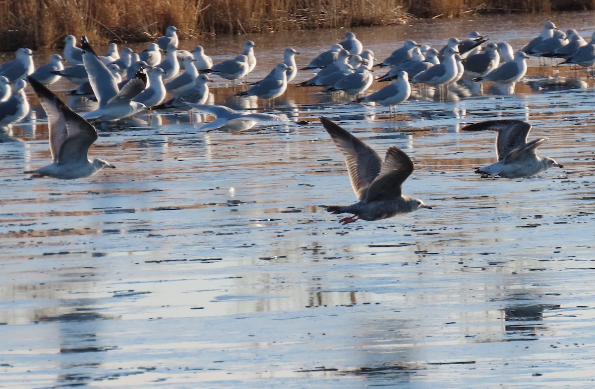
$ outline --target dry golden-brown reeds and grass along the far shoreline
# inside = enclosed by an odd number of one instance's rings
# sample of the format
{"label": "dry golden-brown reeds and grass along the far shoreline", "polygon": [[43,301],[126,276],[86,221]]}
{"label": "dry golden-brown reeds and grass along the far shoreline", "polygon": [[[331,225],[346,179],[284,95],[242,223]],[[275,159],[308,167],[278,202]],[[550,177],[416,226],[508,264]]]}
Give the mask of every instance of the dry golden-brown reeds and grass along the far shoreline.
{"label": "dry golden-brown reeds and grass along the far shoreline", "polygon": [[0,50],[61,47],[66,34],[104,43],[149,41],[170,24],[184,38],[593,9],[595,0],[7,0],[0,2]]}

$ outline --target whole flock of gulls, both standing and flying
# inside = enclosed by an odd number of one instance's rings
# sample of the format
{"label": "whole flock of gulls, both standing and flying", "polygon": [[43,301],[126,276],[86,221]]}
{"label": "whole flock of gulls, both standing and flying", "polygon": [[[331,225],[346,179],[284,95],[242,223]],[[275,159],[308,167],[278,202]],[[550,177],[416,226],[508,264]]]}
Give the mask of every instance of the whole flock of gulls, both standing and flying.
{"label": "whole flock of gulls, both standing and flying", "polygon": [[[87,151],[98,134],[89,121],[115,121],[142,111],[163,109],[187,110],[215,116],[202,129],[243,131],[257,122],[287,121],[270,113],[240,112],[222,105],[206,105],[209,96],[209,75],[232,81],[245,79],[256,66],[255,43],[248,40],[242,53],[233,59],[214,64],[202,46],[190,51],[178,49],[179,39],[174,26],[165,36],[135,53],[130,48],[118,52],[111,43],[105,55],[97,55],[85,36],[77,46],[76,37],[65,37],[63,56],[55,53],[49,64],[35,69],[32,51],[18,49],[15,59],[0,65],[0,131],[21,121],[29,112],[24,93],[27,83],[39,97],[48,116],[49,147],[52,163],[29,170],[32,177],[49,176],[77,179],[95,174],[114,165],[101,159],[89,160]],[[514,52],[506,42],[488,42],[482,34],[472,31],[465,39],[450,38],[442,48],[431,48],[408,40],[380,63],[371,50],[364,50],[352,32],[345,40],[298,68],[293,48],[283,52],[283,62],[275,65],[262,80],[252,83],[238,96],[257,96],[270,100],[280,97],[297,71],[312,71],[314,75],[297,84],[298,87],[322,87],[325,91],[343,91],[354,102],[374,102],[395,106],[411,96],[412,84],[421,88],[446,87],[455,83],[493,81],[514,86],[527,72],[527,58],[560,58],[563,64],[593,67],[595,64],[595,33],[587,43],[576,30],[558,30],[548,21],[541,34]],[[68,67],[64,67],[63,61]],[[375,78],[372,67],[387,69]],[[97,101],[96,109],[76,113],[65,105],[49,86],[66,78],[76,84],[70,94],[87,96]],[[364,92],[374,81],[387,86],[371,94]],[[390,82],[394,81],[394,82]],[[166,100],[166,97],[171,98]],[[411,159],[399,148],[390,147],[382,159],[372,148],[330,121],[320,118],[322,126],[343,153],[357,203],[346,207],[329,206],[327,210],[350,213],[340,222],[378,220],[419,208],[431,208],[423,201],[402,194],[402,184],[414,170]],[[497,132],[497,162],[478,169],[486,176],[520,178],[537,175],[552,166],[563,167],[555,160],[537,154],[537,148],[548,138],[527,141],[531,125],[518,120],[479,122],[462,128],[464,131]]]}

